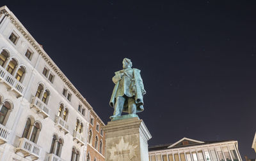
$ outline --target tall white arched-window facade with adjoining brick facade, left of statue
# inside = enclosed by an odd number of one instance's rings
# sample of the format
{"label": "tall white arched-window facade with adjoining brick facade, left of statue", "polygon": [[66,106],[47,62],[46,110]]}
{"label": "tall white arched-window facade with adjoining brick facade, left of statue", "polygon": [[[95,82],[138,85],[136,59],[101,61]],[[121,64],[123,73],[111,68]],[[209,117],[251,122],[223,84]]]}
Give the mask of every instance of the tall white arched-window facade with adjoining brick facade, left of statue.
{"label": "tall white arched-window facade with adjoining brick facade, left of statue", "polygon": [[[103,161],[103,126],[42,46],[1,7],[0,161]],[[87,144],[90,130],[94,140]]]}

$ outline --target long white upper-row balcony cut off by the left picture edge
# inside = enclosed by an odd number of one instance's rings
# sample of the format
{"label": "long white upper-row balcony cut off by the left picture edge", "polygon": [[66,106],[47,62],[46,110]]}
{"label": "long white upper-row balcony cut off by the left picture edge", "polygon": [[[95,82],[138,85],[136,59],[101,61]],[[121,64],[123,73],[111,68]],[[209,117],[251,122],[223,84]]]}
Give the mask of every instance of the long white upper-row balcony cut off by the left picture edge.
{"label": "long white upper-row balcony cut off by the left picture edge", "polygon": [[2,66],[0,66],[0,82],[6,83],[10,87],[10,90],[14,90],[18,97],[24,95],[25,87],[16,80],[12,74],[8,73]]}

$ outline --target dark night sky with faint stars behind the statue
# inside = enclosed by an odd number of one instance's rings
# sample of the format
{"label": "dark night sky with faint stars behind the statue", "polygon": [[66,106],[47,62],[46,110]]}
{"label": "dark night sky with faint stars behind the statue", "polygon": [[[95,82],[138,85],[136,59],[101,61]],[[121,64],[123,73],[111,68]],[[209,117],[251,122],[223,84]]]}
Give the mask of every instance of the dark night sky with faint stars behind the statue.
{"label": "dark night sky with faint stars behind the statue", "polygon": [[256,1],[6,1],[107,123],[122,59],[141,69],[150,145],[182,137],[251,146]]}

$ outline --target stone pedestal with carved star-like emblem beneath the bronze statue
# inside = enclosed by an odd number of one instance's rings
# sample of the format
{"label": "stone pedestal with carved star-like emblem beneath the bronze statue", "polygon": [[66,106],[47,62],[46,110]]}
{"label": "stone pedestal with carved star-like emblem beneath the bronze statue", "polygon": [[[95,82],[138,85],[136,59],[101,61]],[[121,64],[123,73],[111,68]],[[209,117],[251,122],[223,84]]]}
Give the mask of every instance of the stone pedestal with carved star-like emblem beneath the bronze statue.
{"label": "stone pedestal with carved star-like emblem beneath the bronze statue", "polygon": [[108,122],[106,161],[148,161],[148,140],[151,135],[138,117]]}

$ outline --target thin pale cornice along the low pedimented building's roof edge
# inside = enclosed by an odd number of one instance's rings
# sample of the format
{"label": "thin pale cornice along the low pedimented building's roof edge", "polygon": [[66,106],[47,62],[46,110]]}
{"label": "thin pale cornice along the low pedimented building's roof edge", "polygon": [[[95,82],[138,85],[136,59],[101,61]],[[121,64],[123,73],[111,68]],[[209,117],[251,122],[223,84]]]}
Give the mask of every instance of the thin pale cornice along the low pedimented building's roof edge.
{"label": "thin pale cornice along the low pedimented building's roof edge", "polygon": [[[209,143],[209,144],[202,144],[202,145],[193,144],[191,146],[180,146],[180,147],[173,148],[173,149],[152,150],[152,151],[148,151],[148,153],[161,153],[161,151],[168,151],[168,150],[175,151],[175,150],[179,150],[179,149],[190,149],[190,148],[193,148],[196,146],[207,146],[207,145],[212,145],[212,144],[227,144],[227,143],[237,143],[237,141],[223,141],[223,142],[216,142],[216,143]],[[237,146],[237,144],[235,144],[235,146]]]}

